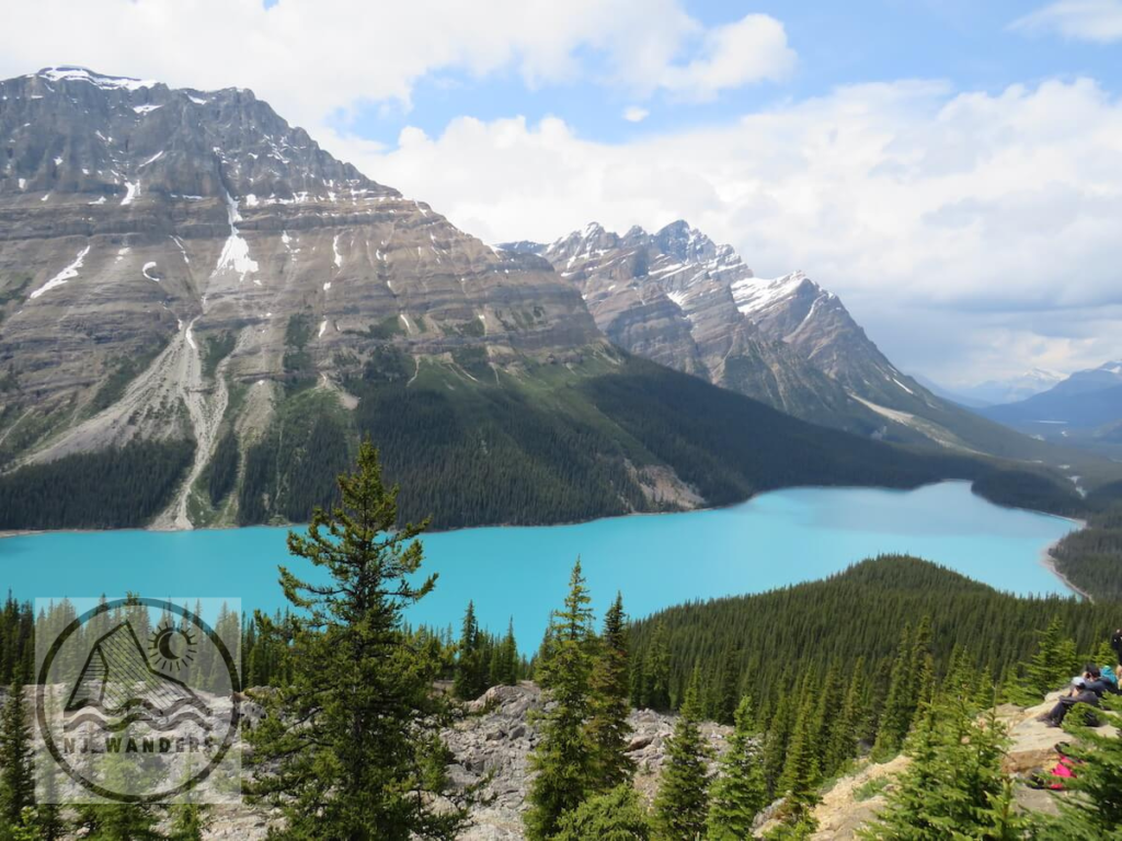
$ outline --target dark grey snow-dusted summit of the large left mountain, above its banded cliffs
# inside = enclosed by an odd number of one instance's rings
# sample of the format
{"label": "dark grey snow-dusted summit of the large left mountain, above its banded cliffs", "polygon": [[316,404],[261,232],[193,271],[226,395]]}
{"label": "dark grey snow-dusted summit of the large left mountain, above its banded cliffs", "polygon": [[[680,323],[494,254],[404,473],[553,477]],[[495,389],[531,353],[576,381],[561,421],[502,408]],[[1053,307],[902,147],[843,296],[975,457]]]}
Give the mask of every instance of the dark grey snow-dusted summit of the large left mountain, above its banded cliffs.
{"label": "dark grey snow-dusted summit of the large left mountain, above its banded cliffs", "polygon": [[236,87],[174,90],[84,67],[48,67],[0,82],[0,192],[28,203],[75,195],[125,206],[157,195],[229,194],[250,204],[344,192],[399,195]]}

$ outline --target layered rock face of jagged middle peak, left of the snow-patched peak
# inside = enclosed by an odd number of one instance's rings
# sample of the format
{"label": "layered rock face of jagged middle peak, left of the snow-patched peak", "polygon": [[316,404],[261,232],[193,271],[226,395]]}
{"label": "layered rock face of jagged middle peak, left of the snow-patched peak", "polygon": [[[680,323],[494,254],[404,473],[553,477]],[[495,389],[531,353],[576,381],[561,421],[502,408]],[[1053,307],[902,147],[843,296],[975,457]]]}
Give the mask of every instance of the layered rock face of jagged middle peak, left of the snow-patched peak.
{"label": "layered rock face of jagged middle peak, left of the snow-patched peak", "polygon": [[807,420],[873,434],[883,419],[781,338],[739,309],[733,290],[752,270],[729,246],[686,222],[619,235],[590,224],[543,255],[585,297],[597,325],[638,355],[762,400]]}

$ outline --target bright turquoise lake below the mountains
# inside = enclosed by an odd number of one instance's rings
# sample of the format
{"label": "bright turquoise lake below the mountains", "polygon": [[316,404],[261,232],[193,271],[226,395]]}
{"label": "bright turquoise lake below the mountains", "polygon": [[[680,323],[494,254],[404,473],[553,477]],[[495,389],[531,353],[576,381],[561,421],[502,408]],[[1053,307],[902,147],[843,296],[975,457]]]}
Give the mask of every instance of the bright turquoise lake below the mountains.
{"label": "bright turquoise lake below the mountains", "polygon": [[[484,626],[513,617],[519,647],[537,645],[580,555],[598,614],[624,594],[632,616],[695,599],[820,579],[882,553],[910,553],[1019,594],[1066,593],[1042,563],[1070,520],[1001,508],[966,482],[913,491],[806,488],[709,511],[619,517],[571,526],[472,528],[424,538],[436,590],[414,622],[458,625],[471,599]],[[151,598],[284,603],[286,528],[49,533],[0,539],[0,584],[19,599],[126,591]]]}

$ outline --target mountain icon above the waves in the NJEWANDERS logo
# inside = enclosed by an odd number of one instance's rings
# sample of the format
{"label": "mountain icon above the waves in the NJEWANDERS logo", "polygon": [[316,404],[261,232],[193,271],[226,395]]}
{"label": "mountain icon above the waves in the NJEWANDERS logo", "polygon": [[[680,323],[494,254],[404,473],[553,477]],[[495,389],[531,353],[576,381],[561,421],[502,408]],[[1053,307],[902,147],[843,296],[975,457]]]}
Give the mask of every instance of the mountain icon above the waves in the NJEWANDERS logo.
{"label": "mountain icon above the waves in the NJEWANDERS logo", "polygon": [[187,722],[211,729],[211,710],[185,683],[151,667],[128,620],[93,645],[63,714],[64,730],[92,723],[117,732],[136,722],[157,732]]}

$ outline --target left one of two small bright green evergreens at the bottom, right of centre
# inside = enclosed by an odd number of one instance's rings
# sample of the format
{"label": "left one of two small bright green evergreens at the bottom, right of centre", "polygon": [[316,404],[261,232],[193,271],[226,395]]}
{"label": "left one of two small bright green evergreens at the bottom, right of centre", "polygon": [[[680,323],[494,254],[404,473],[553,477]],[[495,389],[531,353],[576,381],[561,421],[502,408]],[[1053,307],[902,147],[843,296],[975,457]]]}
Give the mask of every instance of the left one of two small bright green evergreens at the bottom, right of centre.
{"label": "left one of two small bright green evergreens at the bottom, right of centre", "polygon": [[674,723],[674,733],[666,741],[666,758],[654,798],[654,823],[661,841],[705,837],[710,749],[698,727],[699,683],[700,677],[695,672]]}

